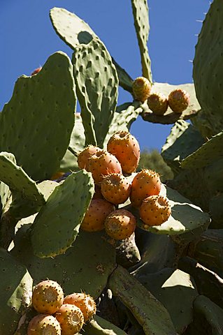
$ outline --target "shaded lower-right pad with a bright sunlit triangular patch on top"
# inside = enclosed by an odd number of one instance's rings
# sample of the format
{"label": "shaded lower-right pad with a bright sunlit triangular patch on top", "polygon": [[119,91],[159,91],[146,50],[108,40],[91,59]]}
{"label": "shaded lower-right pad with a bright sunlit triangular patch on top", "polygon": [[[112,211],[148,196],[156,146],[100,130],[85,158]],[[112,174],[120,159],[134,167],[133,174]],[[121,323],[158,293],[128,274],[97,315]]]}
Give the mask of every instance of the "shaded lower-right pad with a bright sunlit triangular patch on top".
{"label": "shaded lower-right pad with a bright sunlit triangular patch on top", "polygon": [[193,320],[193,302],[199,295],[189,274],[166,268],[137,278],[166,307],[175,329],[182,334]]}

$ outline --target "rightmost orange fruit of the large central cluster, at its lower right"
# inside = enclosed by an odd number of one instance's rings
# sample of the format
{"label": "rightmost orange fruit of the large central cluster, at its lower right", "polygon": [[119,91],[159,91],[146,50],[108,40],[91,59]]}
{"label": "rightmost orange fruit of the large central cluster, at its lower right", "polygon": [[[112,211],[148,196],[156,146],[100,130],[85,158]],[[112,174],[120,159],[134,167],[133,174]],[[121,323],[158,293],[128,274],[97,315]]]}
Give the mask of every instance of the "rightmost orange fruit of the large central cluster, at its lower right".
{"label": "rightmost orange fruit of the large central cluster, at its lower right", "polygon": [[139,208],[141,220],[145,223],[143,228],[151,225],[161,225],[171,215],[171,205],[168,200],[160,195],[152,195],[143,200]]}

